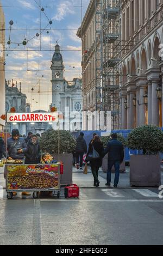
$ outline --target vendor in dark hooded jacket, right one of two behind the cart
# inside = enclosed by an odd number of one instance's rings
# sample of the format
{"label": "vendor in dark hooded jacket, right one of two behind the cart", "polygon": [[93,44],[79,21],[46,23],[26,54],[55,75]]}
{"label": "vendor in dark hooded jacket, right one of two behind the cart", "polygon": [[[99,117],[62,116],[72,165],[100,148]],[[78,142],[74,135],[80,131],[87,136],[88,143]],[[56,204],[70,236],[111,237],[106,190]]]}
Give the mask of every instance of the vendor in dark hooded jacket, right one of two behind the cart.
{"label": "vendor in dark hooded jacket, right one of two behind the cart", "polygon": [[37,136],[32,135],[31,139],[29,139],[27,143],[28,151],[25,154],[26,160],[25,164],[32,164],[32,163],[40,163],[41,154],[40,154],[40,145],[37,141]]}

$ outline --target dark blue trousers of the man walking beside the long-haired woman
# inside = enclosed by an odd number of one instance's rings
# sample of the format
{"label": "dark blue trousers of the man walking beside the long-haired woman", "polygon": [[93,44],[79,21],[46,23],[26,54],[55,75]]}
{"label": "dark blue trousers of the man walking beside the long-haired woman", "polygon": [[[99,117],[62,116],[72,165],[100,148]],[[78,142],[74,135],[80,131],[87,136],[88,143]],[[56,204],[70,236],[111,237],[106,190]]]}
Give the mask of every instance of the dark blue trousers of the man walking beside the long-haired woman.
{"label": "dark blue trousers of the man walking beside the long-haired woman", "polygon": [[114,185],[117,186],[120,178],[120,162],[119,161],[109,161],[108,162],[108,172],[107,172],[107,183],[111,183],[111,169],[112,166],[115,168],[115,179]]}

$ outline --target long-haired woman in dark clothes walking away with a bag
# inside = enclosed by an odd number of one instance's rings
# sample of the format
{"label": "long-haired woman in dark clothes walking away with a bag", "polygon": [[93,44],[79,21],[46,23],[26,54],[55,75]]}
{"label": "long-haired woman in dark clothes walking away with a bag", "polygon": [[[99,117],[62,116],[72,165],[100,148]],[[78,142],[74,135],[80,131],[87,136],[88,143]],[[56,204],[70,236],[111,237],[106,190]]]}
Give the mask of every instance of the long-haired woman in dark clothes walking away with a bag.
{"label": "long-haired woman in dark clothes walking away with a bag", "polygon": [[97,153],[99,154],[98,158],[90,161],[92,175],[94,178],[93,186],[99,187],[98,170],[99,170],[99,167],[102,166],[102,161],[103,161],[102,153],[104,151],[104,147],[98,135],[93,137],[92,141],[89,144],[89,150],[87,151],[86,161],[87,161],[87,156],[89,156],[89,154],[93,154],[93,150],[96,150]]}

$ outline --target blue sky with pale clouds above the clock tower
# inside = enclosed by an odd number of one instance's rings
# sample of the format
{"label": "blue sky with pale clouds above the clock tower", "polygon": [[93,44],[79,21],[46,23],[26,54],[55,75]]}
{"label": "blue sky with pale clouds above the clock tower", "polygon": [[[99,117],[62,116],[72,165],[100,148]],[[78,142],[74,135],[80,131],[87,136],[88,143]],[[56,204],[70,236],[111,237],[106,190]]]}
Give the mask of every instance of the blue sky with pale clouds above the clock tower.
{"label": "blue sky with pale clouds above the clock tower", "polygon": [[[39,37],[33,38],[40,32],[39,0],[1,2],[7,29],[5,41],[9,40],[9,35],[11,40],[10,45],[6,44],[6,79],[22,83],[22,92],[27,95],[27,102],[31,103],[32,111],[48,110],[52,101],[50,66],[57,40],[64,59],[65,79],[82,77],[81,41],[76,33],[90,1],[41,0],[41,7],[45,9],[44,13],[41,11],[41,29],[46,28],[41,33],[41,51]],[[14,25],[11,26],[10,33],[11,20]],[[49,24],[51,20],[52,25]],[[29,40],[26,46],[22,45],[24,39]]]}

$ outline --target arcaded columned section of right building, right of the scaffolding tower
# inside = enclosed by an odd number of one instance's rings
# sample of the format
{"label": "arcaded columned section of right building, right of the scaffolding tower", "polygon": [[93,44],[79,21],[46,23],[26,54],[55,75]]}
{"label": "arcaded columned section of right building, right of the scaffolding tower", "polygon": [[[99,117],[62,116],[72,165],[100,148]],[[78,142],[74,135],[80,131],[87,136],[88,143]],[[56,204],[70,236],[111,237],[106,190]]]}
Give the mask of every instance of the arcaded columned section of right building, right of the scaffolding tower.
{"label": "arcaded columned section of right building, right of the scaffolding tower", "polygon": [[122,1],[122,129],[162,126],[162,17],[162,0]]}

